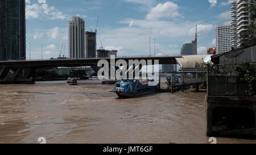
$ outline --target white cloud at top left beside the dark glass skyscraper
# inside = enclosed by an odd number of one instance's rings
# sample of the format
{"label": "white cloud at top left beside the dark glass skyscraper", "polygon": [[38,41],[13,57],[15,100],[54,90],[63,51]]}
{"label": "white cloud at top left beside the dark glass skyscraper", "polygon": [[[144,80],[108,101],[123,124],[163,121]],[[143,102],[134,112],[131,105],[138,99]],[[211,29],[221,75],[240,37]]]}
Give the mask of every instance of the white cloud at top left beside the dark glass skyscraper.
{"label": "white cloud at top left beside the dark glass skyscraper", "polygon": [[67,19],[67,15],[57,10],[54,6],[48,6],[46,0],[38,0],[38,2],[39,4],[26,6],[26,19]]}

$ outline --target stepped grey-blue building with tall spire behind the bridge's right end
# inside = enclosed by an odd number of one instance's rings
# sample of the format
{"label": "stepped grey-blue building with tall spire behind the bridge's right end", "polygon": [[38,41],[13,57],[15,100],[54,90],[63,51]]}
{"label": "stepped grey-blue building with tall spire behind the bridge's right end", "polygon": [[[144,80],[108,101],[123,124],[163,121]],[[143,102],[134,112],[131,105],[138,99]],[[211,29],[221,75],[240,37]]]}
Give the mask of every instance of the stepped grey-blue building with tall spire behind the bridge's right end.
{"label": "stepped grey-blue building with tall spire behind the bridge's right end", "polygon": [[192,43],[185,43],[180,50],[180,55],[197,55],[197,26],[195,40],[192,40]]}

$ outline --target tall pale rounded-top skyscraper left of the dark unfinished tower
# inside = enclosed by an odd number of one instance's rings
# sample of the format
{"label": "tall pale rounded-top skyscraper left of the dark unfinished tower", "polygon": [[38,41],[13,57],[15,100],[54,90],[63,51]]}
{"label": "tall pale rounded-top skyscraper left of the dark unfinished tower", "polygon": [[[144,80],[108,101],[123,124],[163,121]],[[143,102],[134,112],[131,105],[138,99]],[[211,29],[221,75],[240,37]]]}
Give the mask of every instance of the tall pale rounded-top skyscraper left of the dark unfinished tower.
{"label": "tall pale rounded-top skyscraper left of the dark unfinished tower", "polygon": [[85,58],[85,23],[79,16],[72,16],[68,23],[69,58]]}

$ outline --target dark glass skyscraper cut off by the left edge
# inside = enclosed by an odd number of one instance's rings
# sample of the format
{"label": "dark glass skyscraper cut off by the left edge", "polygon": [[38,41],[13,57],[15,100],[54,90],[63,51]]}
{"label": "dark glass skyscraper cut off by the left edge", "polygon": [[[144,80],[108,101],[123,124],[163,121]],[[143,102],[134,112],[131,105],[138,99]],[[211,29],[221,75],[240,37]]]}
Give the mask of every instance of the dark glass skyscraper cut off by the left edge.
{"label": "dark glass skyscraper cut off by the left edge", "polygon": [[26,60],[25,0],[0,1],[0,60]]}

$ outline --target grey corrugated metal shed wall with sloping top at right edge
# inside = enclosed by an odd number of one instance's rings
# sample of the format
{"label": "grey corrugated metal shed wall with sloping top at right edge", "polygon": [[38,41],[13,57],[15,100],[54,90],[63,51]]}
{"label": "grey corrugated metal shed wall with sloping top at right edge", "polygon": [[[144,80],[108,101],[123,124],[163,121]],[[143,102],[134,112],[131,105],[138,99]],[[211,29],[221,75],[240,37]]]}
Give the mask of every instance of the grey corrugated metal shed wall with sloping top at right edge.
{"label": "grey corrugated metal shed wall with sloping top at right edge", "polygon": [[220,56],[220,64],[240,64],[244,61],[256,62],[256,45]]}

